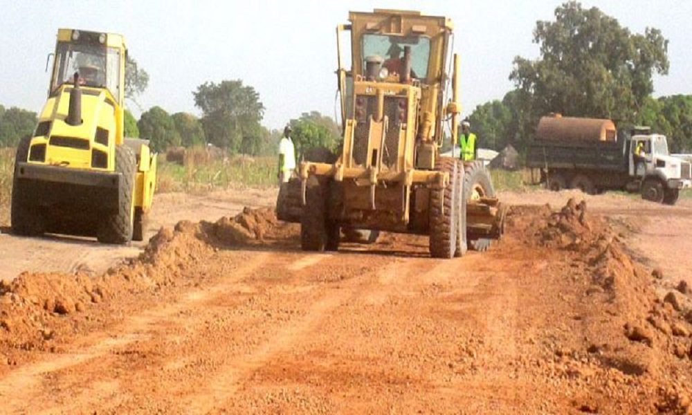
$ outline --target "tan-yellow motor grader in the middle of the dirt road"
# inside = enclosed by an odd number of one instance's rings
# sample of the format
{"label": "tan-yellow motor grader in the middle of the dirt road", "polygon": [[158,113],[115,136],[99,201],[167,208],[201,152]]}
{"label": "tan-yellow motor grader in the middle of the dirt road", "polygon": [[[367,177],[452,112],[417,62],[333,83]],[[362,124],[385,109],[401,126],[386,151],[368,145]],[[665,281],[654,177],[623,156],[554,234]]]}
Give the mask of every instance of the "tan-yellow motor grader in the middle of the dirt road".
{"label": "tan-yellow motor grader in the middle of the dirt road", "polygon": [[461,111],[452,21],[350,12],[336,41],[343,146],[335,163],[300,163],[280,190],[280,219],[300,220],[309,251],[338,250],[343,229],[427,235],[436,258],[486,250],[502,235],[505,212],[489,172],[440,155],[445,131],[458,136]]}

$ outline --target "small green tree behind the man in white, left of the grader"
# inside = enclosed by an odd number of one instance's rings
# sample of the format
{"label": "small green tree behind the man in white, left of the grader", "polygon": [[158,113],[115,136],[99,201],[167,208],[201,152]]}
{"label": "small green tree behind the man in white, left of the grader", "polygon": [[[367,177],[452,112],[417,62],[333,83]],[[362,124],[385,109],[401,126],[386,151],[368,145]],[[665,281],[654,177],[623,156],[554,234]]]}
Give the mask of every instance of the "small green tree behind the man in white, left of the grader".
{"label": "small green tree behind the man in white, left of the grader", "polygon": [[307,149],[322,147],[336,151],[341,143],[340,128],[328,116],[318,111],[302,113],[300,118],[291,120],[291,138],[296,156],[300,158]]}

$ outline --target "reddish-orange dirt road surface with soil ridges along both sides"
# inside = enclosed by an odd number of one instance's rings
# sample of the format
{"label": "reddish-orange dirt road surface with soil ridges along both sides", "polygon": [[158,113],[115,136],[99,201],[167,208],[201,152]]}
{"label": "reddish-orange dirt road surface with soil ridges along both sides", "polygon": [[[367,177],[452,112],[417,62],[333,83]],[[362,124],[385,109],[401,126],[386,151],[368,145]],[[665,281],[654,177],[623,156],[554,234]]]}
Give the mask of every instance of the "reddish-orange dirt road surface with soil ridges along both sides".
{"label": "reddish-orange dirt road surface with soil ridges along both sides", "polygon": [[[170,197],[190,219],[272,199]],[[685,411],[692,325],[655,291],[684,276],[666,259],[689,261],[692,205],[668,208],[662,227],[646,203],[587,199],[589,221],[516,208],[499,246],[451,261],[426,257],[419,237],[307,254],[293,225],[238,243],[223,223],[183,223],[102,277],[26,275],[0,296],[1,412]],[[652,282],[653,266],[669,281]]]}

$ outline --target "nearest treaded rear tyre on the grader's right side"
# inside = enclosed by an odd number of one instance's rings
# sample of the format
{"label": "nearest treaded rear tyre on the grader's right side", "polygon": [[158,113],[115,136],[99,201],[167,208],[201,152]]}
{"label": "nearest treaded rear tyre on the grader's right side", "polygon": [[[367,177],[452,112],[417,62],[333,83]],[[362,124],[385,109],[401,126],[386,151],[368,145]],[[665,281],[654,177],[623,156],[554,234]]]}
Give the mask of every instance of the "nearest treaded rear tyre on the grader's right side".
{"label": "nearest treaded rear tyre on the grader's right side", "polygon": [[459,225],[459,162],[456,158],[438,158],[435,169],[448,172],[449,185],[430,190],[430,256],[452,258],[457,252]]}

